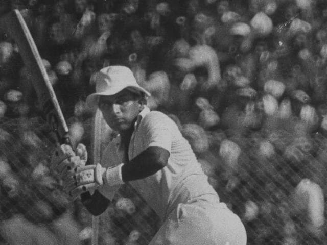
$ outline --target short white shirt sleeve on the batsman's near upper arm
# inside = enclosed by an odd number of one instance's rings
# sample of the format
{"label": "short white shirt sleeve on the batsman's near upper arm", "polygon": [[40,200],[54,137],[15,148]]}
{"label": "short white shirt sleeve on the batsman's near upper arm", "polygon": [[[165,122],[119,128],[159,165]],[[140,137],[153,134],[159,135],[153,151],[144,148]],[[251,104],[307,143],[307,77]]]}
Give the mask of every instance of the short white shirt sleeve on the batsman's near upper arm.
{"label": "short white shirt sleeve on the batsman's near upper arm", "polygon": [[173,135],[177,126],[167,115],[152,111],[144,118],[147,147],[157,146],[171,152]]}

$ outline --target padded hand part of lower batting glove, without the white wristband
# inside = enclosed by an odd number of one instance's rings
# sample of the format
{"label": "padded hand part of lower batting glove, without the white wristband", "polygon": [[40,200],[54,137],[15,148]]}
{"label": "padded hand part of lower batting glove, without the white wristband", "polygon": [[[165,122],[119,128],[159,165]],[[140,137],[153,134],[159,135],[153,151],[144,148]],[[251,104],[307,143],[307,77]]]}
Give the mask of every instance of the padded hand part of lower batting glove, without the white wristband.
{"label": "padded hand part of lower batting glove, without the white wristband", "polygon": [[76,199],[81,193],[89,191],[94,192],[103,185],[103,174],[106,168],[101,164],[79,166],[68,171],[65,179],[64,191],[73,199]]}

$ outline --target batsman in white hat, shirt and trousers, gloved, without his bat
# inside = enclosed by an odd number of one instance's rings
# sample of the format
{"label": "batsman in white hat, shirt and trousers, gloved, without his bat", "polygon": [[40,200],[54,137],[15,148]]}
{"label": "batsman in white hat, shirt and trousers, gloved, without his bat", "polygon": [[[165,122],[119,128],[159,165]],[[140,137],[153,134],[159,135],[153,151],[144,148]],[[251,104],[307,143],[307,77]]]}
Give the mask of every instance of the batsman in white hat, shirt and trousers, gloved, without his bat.
{"label": "batsman in white hat, shirt and trousers, gloved, without his bat", "polygon": [[162,225],[150,245],[245,245],[240,218],[219,201],[189,142],[164,113],[150,111],[148,91],[125,66],[108,66],[96,77],[86,102],[99,108],[118,133],[101,163],[85,165],[85,148],[75,156],[67,145],[52,162],[73,199],[93,215],[106,210],[120,185],[129,183],[153,208]]}

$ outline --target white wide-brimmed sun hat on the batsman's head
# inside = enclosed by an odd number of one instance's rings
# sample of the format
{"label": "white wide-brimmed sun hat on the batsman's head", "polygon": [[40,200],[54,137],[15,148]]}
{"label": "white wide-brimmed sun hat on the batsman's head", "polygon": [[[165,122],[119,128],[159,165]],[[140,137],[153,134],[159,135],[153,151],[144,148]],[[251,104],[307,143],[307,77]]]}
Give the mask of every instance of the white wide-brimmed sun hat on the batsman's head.
{"label": "white wide-brimmed sun hat on the batsman's head", "polygon": [[96,92],[87,96],[86,103],[91,109],[98,107],[99,96],[114,95],[123,89],[133,92],[143,92],[147,96],[151,94],[138,85],[133,72],[126,66],[107,66],[95,75]]}

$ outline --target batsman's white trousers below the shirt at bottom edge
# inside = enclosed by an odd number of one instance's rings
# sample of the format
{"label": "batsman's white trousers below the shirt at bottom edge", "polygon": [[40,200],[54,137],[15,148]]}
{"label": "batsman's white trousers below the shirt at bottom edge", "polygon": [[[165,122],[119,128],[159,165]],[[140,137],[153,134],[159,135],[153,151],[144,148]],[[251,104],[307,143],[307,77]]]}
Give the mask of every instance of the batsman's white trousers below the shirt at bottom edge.
{"label": "batsman's white trousers below the shirt at bottom edge", "polygon": [[245,245],[246,240],[241,219],[207,194],[179,204],[149,245]]}

